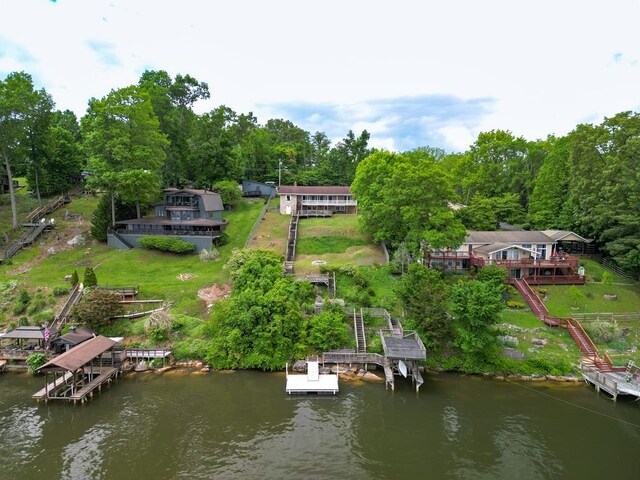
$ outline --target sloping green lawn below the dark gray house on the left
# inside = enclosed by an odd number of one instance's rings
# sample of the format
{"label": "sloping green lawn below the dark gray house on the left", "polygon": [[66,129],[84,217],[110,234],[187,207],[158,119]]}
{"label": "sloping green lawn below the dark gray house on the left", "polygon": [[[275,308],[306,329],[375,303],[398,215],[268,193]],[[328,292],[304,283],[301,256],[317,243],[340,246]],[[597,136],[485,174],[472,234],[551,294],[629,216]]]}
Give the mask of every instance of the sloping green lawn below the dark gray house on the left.
{"label": "sloping green lawn below the dark gray house on the left", "polygon": [[[96,199],[79,199],[67,208],[70,212],[82,212],[90,217],[95,203]],[[56,286],[65,285],[64,276],[74,269],[82,278],[84,268],[92,266],[100,285],[138,285],[141,299],[164,299],[175,303],[174,313],[203,316],[205,306],[197,296],[198,290],[228,281],[228,273],[222,267],[233,248],[243,247],[263,205],[261,200],[243,201],[236,210],[225,213],[229,220],[226,230],[229,243],[219,248],[219,261],[208,263],[201,262],[198,255],[193,254],[173,255],[146,249],[116,250],[93,241],[81,247],[68,247],[64,240],[80,231],[82,226],[67,225],[63,230],[64,222],[60,220],[58,228],[43,238],[43,246],[38,243],[20,252],[11,265],[0,265],[0,281],[18,281],[20,287],[30,290],[41,288],[47,293]],[[57,215],[62,216],[64,212],[57,212]],[[83,219],[82,224],[86,233],[89,220]],[[62,235],[64,238],[58,239]],[[55,242],[66,249],[61,247],[54,255],[47,254],[47,249]],[[177,278],[182,273],[189,273],[193,278],[182,281]],[[3,323],[10,320],[5,317]]]}

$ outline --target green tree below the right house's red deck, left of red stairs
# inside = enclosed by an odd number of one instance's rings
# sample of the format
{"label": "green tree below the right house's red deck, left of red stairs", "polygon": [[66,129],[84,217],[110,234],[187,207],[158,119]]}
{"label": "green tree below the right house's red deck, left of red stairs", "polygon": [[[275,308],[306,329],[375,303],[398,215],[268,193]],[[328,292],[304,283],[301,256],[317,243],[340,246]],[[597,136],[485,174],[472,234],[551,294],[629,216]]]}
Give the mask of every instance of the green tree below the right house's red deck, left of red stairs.
{"label": "green tree below the right house's red deck, left of red stairs", "polygon": [[454,345],[465,356],[482,354],[495,344],[492,326],[500,319],[502,296],[491,282],[458,282],[451,290]]}

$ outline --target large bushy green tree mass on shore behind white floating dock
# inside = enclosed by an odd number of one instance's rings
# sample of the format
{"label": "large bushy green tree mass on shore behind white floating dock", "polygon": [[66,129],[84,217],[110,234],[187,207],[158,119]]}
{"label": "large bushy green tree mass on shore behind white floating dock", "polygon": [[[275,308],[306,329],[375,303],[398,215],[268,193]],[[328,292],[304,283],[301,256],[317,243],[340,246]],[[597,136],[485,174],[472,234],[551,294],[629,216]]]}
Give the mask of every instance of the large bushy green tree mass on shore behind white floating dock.
{"label": "large bushy green tree mass on shore behind white floating dock", "polygon": [[282,275],[282,258],[262,250],[236,250],[227,264],[229,299],[216,305],[207,330],[206,360],[214,368],[282,368],[303,355],[313,287]]}

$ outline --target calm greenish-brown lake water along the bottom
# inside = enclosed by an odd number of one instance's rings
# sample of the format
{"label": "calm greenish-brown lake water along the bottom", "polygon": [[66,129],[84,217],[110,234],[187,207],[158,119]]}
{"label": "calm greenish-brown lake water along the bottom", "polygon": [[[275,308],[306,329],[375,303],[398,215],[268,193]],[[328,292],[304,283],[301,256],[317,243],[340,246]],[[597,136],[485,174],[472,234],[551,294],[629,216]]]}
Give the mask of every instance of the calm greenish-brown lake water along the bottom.
{"label": "calm greenish-brown lake water along the bottom", "polygon": [[640,404],[427,376],[288,397],[279,374],[130,374],[83,406],[0,375],[0,478],[640,478]]}

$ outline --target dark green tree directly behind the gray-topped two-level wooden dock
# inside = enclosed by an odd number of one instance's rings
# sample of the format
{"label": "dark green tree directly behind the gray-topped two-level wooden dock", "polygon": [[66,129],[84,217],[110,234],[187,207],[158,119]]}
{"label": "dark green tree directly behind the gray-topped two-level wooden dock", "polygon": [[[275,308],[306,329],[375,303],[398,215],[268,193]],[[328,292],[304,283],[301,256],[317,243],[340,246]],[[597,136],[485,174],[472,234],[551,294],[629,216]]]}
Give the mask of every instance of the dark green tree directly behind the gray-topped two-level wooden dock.
{"label": "dark green tree directly behind the gray-topped two-level wooden dock", "polygon": [[440,346],[450,336],[447,295],[448,288],[442,273],[417,263],[409,265],[398,287],[406,318],[431,349]]}

